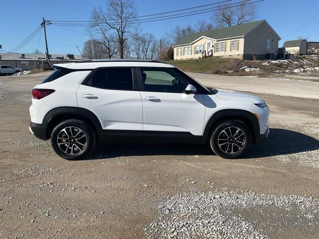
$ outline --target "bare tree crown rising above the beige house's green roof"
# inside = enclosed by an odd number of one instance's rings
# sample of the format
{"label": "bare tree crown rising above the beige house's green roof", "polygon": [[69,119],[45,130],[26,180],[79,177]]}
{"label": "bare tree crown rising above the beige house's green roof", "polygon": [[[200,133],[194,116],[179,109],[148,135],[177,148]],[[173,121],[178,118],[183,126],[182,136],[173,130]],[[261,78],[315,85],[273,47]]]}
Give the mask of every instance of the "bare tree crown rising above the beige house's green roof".
{"label": "bare tree crown rising above the beige house's green roof", "polygon": [[254,3],[247,4],[242,0],[237,6],[225,8],[219,5],[217,11],[214,12],[212,20],[218,27],[238,25],[254,20],[256,17],[256,5]]}

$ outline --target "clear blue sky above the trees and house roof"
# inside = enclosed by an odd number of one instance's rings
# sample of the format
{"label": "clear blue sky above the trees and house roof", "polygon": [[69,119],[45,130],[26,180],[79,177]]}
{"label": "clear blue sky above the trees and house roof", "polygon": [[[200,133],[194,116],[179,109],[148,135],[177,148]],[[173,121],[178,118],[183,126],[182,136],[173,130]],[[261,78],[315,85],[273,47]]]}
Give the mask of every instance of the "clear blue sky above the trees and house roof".
{"label": "clear blue sky above the trees and house roof", "polygon": [[[4,1],[4,0],[0,0]],[[138,15],[166,12],[193,7],[219,0],[133,0]],[[236,0],[234,0],[236,1]],[[11,51],[24,40],[42,21],[48,20],[89,20],[95,6],[106,6],[106,0],[10,0],[0,4],[0,45],[3,51]],[[224,3],[226,4],[226,3]],[[266,19],[284,41],[298,37],[319,41],[319,0],[265,0],[257,5],[256,20]],[[16,7],[18,6],[18,7]],[[158,22],[142,23],[144,32],[153,33],[157,38],[175,25],[194,24],[199,19],[211,21],[213,12],[180,17]],[[85,27],[47,26],[49,54],[76,54],[89,39]],[[39,49],[45,52],[44,33],[40,30],[19,53],[32,53]],[[1,50],[0,50],[1,52]],[[2,52],[3,54],[3,52]]]}

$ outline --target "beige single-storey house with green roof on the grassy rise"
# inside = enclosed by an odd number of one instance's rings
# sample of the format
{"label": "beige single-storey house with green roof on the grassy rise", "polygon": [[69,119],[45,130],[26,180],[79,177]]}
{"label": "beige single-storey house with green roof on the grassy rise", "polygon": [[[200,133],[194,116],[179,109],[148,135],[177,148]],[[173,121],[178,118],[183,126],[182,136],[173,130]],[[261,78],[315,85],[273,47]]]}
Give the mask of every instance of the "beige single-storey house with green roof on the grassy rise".
{"label": "beige single-storey house with green roof on the grassy rise", "polygon": [[202,57],[277,59],[280,36],[266,20],[190,34],[172,47],[174,60]]}

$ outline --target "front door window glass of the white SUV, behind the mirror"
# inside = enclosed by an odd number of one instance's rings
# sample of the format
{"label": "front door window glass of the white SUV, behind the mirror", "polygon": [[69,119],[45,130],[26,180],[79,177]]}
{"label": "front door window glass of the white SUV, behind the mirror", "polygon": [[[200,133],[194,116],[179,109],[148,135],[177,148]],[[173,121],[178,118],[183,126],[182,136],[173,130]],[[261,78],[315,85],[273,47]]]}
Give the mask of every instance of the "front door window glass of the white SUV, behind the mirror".
{"label": "front door window glass of the white SUV, behind the mirror", "polygon": [[144,90],[151,92],[183,93],[189,81],[174,68],[142,68]]}

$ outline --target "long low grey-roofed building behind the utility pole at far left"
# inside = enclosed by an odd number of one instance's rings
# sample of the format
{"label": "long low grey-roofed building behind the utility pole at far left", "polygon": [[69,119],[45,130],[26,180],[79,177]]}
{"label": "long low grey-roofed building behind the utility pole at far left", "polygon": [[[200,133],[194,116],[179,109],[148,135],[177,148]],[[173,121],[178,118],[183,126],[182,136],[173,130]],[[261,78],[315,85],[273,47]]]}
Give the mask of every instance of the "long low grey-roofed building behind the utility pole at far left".
{"label": "long low grey-roofed building behind the utility pole at far left", "polygon": [[[32,70],[42,67],[42,63],[46,62],[45,54],[37,53],[12,53],[5,56],[7,53],[0,52],[2,65],[10,65],[12,67],[19,67],[22,70]],[[50,65],[58,63],[70,63],[82,60],[81,56],[73,54],[51,54],[49,55]]]}

